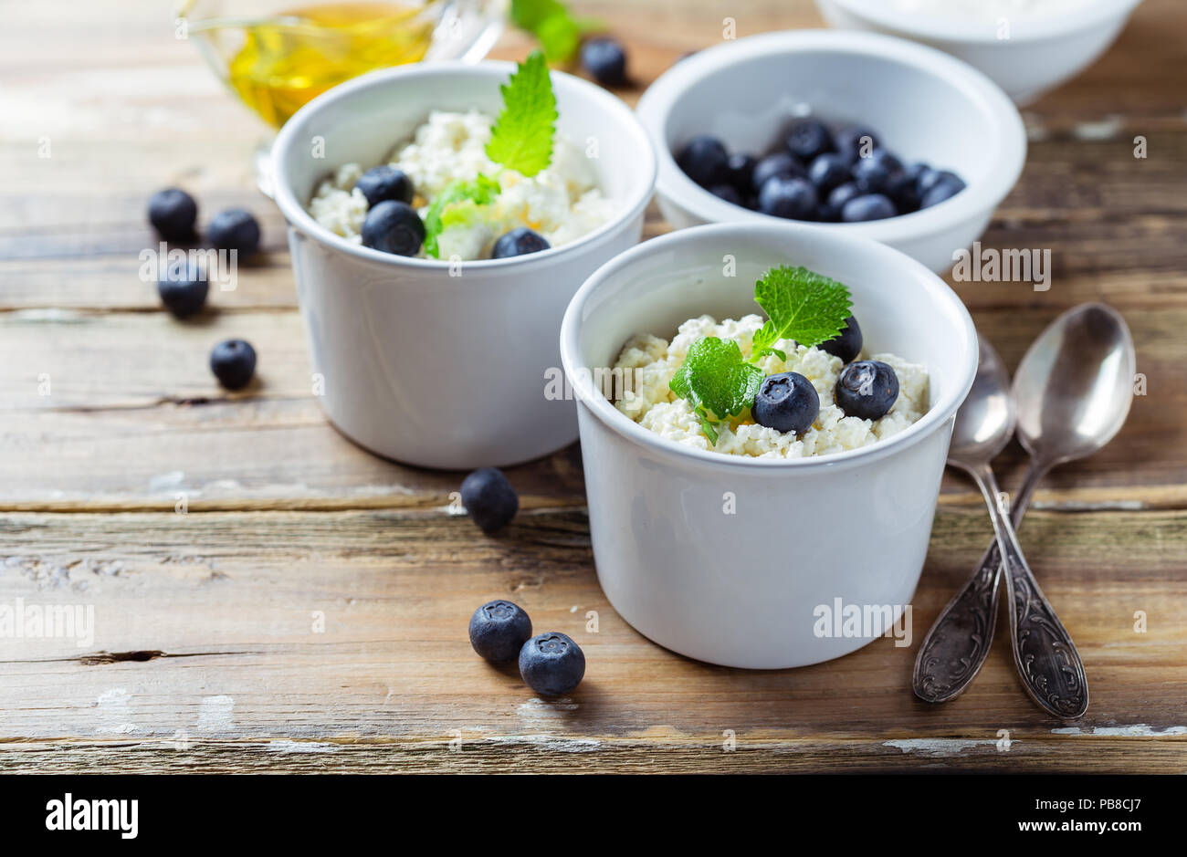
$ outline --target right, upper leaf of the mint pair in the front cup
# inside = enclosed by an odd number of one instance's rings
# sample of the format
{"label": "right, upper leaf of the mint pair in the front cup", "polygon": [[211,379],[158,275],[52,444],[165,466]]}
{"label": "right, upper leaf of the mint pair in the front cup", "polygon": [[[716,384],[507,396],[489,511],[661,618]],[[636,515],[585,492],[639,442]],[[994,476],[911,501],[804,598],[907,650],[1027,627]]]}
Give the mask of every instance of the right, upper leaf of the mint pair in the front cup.
{"label": "right, upper leaf of the mint pair in the front cup", "polygon": [[[751,360],[776,354],[780,339],[811,348],[840,332],[850,315],[849,290],[804,267],[772,268],[754,286],[754,299],[767,322],[754,335]],[[786,360],[786,357],[785,357]]]}

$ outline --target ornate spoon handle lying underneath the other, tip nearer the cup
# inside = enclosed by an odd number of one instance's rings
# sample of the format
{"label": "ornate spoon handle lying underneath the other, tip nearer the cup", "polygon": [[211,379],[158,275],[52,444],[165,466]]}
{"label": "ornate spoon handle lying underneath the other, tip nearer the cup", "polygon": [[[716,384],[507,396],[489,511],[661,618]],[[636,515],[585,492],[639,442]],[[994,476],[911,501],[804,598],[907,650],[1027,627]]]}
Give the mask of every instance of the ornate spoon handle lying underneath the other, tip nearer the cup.
{"label": "ornate spoon handle lying underneath the other, tip nearer the cup", "polygon": [[[1046,472],[1046,466],[1032,461],[1010,509],[1015,527],[1022,522],[1035,485]],[[915,696],[923,702],[946,703],[956,698],[985,662],[994,643],[994,626],[997,624],[1001,563],[1002,554],[995,539],[964,589],[940,611],[923,637],[915,656],[913,677]]]}

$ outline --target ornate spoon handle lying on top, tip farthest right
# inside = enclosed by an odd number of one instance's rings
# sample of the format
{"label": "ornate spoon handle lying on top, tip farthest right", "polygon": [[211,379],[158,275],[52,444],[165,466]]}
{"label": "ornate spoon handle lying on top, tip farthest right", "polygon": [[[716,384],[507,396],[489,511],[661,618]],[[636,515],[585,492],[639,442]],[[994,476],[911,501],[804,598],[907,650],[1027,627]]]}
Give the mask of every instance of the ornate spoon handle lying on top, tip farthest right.
{"label": "ornate spoon handle lying on top, tip farthest right", "polygon": [[1055,717],[1075,719],[1088,709],[1088,681],[1071,635],[1039,589],[1014,526],[997,502],[998,489],[988,464],[973,472],[994,520],[1010,602],[1014,665],[1022,685],[1040,707]]}

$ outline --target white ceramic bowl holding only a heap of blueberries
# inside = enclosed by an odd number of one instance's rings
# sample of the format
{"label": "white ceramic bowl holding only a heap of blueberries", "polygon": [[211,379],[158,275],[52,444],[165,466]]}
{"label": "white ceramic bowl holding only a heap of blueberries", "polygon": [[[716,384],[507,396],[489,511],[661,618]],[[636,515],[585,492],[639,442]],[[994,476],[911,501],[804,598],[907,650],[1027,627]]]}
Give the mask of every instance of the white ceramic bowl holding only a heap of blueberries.
{"label": "white ceramic bowl holding only a heap of blueberries", "polygon": [[925,160],[965,180],[963,191],[922,211],[814,224],[890,245],[932,271],[951,268],[952,254],[980,236],[1026,160],[1026,128],[1010,100],[940,51],[875,33],[768,33],[681,59],[640,100],[639,118],[659,154],[664,215],[677,228],[776,222],[700,188],[674,153],[691,138],[712,134],[731,152],[761,154],[789,116],[807,112],[867,125],[903,160]]}

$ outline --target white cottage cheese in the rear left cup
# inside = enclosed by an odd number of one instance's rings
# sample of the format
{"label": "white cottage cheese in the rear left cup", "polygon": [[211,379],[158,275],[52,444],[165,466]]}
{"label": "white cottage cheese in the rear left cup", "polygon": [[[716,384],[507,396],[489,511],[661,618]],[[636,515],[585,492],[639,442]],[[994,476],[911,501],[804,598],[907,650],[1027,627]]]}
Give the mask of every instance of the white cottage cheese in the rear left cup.
{"label": "white cottage cheese in the rear left cup", "polygon": [[[450,182],[470,180],[480,172],[496,177],[502,186],[496,201],[476,208],[465,223],[450,227],[438,237],[442,259],[489,259],[496,239],[516,227],[527,227],[550,245],[575,241],[615,215],[611,199],[602,196],[590,159],[564,134],[557,133],[552,164],[527,178],[494,164],[485,153],[494,120],[476,110],[433,112],[408,142],[389,155],[392,166],[412,179],[413,204],[421,217]],[[322,182],[309,204],[318,223],[348,241],[360,243],[367,198],[355,190],[363,173],[360,164],[344,164]],[[420,254],[424,258],[424,249]]]}

